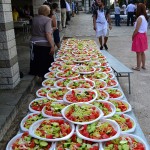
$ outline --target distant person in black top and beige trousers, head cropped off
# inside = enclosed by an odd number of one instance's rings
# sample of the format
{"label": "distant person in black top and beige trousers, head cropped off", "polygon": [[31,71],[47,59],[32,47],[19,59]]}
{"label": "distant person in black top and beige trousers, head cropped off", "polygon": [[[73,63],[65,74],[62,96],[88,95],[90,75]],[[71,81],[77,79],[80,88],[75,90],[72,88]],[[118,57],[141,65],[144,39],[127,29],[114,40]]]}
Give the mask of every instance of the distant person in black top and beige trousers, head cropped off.
{"label": "distant person in black top and beige trousers, head cropped off", "polygon": [[66,28],[66,0],[60,0],[62,27]]}

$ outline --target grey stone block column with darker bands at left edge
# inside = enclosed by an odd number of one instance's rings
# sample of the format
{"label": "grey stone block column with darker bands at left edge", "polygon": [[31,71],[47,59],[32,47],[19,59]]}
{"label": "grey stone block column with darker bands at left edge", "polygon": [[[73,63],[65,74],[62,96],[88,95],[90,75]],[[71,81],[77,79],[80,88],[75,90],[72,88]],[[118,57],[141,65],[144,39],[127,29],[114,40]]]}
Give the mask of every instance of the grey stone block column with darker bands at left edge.
{"label": "grey stone block column with darker bands at left edge", "polygon": [[0,89],[20,81],[11,0],[0,0]]}

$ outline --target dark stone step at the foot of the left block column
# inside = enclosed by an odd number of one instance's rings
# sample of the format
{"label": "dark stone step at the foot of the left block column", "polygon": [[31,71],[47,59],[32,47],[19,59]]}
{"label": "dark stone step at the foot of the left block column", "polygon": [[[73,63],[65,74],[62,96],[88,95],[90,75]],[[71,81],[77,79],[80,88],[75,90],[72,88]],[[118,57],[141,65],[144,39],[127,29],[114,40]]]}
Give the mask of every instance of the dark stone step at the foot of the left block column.
{"label": "dark stone step at the foot of the left block column", "polygon": [[16,117],[23,97],[33,85],[34,76],[25,78],[12,90],[0,90],[0,141]]}

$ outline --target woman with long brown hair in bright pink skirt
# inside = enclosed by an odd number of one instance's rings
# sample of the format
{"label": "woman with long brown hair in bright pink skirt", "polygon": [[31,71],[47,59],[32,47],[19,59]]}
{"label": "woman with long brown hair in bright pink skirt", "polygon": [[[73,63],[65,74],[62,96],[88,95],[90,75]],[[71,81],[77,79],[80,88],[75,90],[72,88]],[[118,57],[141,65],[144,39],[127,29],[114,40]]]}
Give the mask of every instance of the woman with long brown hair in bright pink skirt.
{"label": "woman with long brown hair in bright pink skirt", "polygon": [[132,51],[136,52],[137,66],[133,70],[140,71],[145,68],[145,51],[148,49],[147,27],[148,17],[145,5],[139,3],[136,11],[135,30],[132,35]]}

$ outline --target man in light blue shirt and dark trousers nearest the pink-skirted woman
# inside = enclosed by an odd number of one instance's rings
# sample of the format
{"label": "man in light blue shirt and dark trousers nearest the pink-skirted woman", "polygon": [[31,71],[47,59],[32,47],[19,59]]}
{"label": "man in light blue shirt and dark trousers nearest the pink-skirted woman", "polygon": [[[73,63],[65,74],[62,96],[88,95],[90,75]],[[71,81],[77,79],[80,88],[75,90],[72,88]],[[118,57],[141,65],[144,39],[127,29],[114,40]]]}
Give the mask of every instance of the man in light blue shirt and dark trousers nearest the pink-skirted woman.
{"label": "man in light blue shirt and dark trousers nearest the pink-skirted woman", "polygon": [[134,12],[136,10],[135,5],[133,4],[133,2],[131,1],[129,3],[129,5],[126,8],[127,11],[127,26],[129,26],[130,24],[130,20],[131,20],[131,26],[133,26],[133,21],[134,21]]}

